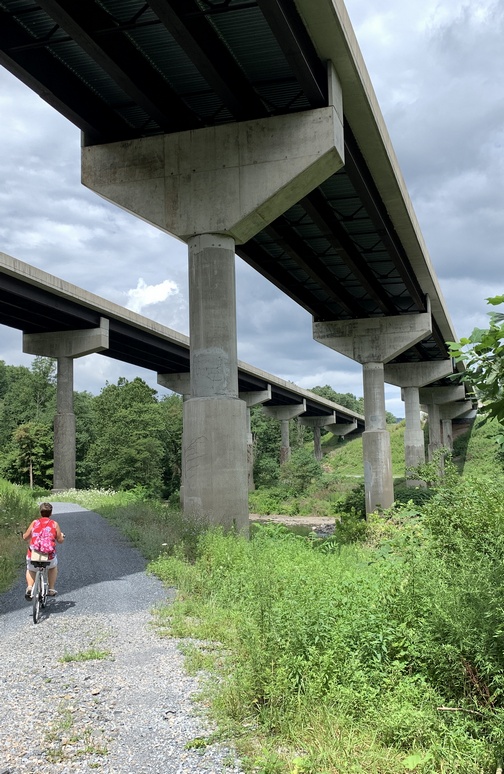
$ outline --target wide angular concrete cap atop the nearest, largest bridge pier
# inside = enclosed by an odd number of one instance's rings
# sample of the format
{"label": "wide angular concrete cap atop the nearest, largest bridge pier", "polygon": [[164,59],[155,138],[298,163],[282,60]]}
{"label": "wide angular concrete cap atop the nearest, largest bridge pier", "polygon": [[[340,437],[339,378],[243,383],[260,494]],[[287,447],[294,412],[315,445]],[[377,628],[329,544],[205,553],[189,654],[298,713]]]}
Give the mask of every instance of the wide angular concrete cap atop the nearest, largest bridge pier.
{"label": "wide angular concrete cap atop the nearest, largest bridge pier", "polygon": [[184,241],[219,233],[241,244],[343,163],[343,125],[329,106],[88,146],[82,182]]}

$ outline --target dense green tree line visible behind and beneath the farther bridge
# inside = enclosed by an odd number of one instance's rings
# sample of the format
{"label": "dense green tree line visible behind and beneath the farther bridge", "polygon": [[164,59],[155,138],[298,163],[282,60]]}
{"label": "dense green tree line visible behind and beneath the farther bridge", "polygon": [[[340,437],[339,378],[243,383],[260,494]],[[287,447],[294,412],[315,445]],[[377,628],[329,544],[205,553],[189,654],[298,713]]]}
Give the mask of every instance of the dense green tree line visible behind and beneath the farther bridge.
{"label": "dense green tree line visible behind and beneath the farther bridge", "polygon": [[[363,399],[329,385],[313,392],[356,413]],[[53,476],[56,362],[36,357],[30,368],[0,361],[0,476],[18,484],[48,488]],[[99,395],[74,393],[76,487],[135,489],[169,498],[180,488],[182,399],[159,396],[143,379],[121,377]],[[392,414],[387,421],[395,422]],[[254,477],[257,486],[281,479],[280,423],[252,408]],[[325,431],[322,431],[325,432]],[[290,424],[293,452],[313,439],[312,430]],[[303,466],[306,467],[303,458]]]}

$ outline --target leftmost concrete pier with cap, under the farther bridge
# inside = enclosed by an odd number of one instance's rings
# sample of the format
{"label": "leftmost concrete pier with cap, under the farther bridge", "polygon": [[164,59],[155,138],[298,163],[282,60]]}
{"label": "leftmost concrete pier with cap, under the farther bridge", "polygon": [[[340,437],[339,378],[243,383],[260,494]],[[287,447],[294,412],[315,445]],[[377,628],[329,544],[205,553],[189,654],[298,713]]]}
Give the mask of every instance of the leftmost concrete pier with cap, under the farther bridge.
{"label": "leftmost concrete pier with cap, under the farther bridge", "polygon": [[99,328],[23,334],[23,352],[57,359],[56,414],[54,417],[53,491],[75,488],[75,414],[73,361],[108,349],[109,321]]}

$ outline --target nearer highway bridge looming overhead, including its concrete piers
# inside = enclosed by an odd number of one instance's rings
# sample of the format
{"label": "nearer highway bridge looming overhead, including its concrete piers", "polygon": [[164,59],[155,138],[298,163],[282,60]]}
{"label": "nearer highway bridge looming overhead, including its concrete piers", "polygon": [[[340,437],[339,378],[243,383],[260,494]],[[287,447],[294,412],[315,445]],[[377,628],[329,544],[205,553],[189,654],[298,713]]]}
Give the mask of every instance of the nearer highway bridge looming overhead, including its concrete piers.
{"label": "nearer highway bridge looming overhead, including its concrete piers", "polygon": [[341,0],[2,0],[0,63],[82,130],[85,185],[188,244],[187,511],[246,529],[235,254],[362,364],[388,507],[384,379],[421,461],[456,336]]}

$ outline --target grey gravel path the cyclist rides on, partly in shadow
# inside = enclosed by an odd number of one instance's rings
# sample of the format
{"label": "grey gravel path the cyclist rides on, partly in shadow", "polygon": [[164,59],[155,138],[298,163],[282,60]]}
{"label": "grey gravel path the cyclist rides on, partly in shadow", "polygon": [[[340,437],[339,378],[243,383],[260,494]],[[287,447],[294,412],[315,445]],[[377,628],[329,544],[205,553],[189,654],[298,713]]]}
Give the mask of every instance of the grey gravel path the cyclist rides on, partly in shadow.
{"label": "grey gravel path the cyclist rides on, partly in shadow", "polygon": [[[150,627],[173,592],[101,516],[54,504],[66,535],[59,594],[38,624],[24,577],[0,595],[0,774],[241,774],[214,743],[178,641]],[[95,649],[106,658],[66,661]]]}

